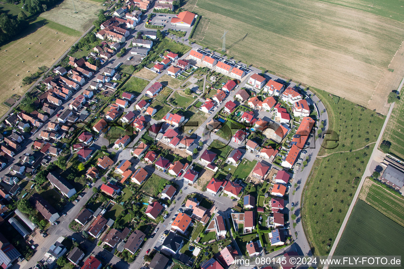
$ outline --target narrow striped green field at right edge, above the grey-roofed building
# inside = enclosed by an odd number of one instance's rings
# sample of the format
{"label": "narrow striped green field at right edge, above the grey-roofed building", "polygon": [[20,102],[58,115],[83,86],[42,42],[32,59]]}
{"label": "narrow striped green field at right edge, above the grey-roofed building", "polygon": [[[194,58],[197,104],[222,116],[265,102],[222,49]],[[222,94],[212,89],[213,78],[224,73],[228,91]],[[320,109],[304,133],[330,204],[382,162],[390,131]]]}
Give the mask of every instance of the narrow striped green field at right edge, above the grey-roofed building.
{"label": "narrow striped green field at right edge, above the grey-roofed building", "polygon": [[383,133],[383,140],[391,143],[390,152],[399,158],[404,159],[404,91],[400,91],[400,101],[394,104],[393,111],[386,129]]}

